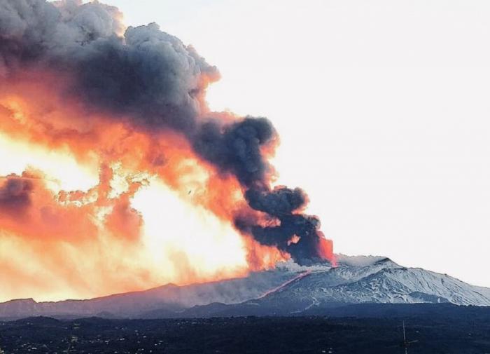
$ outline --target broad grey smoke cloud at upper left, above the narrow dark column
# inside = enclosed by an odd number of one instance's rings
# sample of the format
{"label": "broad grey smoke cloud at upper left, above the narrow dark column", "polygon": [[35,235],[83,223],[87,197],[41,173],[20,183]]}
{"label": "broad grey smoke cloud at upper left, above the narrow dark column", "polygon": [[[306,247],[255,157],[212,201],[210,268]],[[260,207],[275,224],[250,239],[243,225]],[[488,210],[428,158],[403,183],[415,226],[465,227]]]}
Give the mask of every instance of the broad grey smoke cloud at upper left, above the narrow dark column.
{"label": "broad grey smoke cloud at upper left, above the narrow dark column", "polygon": [[98,2],[0,0],[0,68],[63,70],[73,95],[89,106],[124,113],[143,128],[189,132],[200,114],[202,80],[218,70],[156,24],[129,27]]}

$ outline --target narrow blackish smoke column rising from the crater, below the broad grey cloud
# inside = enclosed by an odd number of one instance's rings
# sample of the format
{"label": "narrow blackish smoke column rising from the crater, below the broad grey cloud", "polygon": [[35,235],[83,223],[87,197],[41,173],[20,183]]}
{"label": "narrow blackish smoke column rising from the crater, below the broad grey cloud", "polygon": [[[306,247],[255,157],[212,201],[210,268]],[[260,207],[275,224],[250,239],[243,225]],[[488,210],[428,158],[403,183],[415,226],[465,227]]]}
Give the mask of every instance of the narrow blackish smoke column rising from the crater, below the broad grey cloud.
{"label": "narrow blackish smoke column rising from the crater, below the broad grey cloud", "polygon": [[300,264],[321,261],[329,255],[320,247],[320,221],[299,213],[308,200],[304,191],[269,188],[267,177],[272,171],[261,148],[275,138],[276,132],[267,119],[247,117],[224,128],[218,123],[202,125],[194,147],[221,171],[237,176],[253,210],[279,220],[277,226],[261,226],[253,217],[238,215],[235,224],[239,230],[250,233],[262,245],[288,252]]}

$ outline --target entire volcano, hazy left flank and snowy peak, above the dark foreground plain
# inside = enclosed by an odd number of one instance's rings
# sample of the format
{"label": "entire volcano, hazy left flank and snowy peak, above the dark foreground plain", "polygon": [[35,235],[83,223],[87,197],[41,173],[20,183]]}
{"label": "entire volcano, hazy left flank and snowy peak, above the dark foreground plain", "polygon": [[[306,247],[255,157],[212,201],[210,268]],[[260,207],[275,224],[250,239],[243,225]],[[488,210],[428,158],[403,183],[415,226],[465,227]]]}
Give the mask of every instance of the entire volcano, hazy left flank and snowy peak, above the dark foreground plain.
{"label": "entire volcano, hazy left flank and snowy peak, above the dark foreground plain", "polygon": [[[292,262],[247,278],[187,286],[165,285],[143,292],[91,300],[37,303],[32,299],[0,304],[0,318],[31,315],[113,315],[175,317],[195,306],[239,308],[237,313],[311,313],[345,304],[451,303],[490,306],[490,290],[448,275],[405,268],[386,257],[346,257],[339,265],[298,266]],[[228,311],[228,310],[227,310]],[[190,311],[209,315],[206,309]],[[231,313],[234,313],[233,311]]]}

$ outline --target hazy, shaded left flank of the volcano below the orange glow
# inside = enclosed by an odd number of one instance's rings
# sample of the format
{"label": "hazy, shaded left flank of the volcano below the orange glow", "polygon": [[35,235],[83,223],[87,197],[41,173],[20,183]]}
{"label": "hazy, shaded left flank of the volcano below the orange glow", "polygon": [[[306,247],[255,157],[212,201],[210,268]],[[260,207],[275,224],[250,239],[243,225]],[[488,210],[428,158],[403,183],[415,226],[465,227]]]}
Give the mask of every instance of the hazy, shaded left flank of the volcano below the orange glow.
{"label": "hazy, shaded left flank of the volcano below the orange glow", "polygon": [[66,300],[36,302],[20,299],[0,304],[0,318],[21,318],[34,315],[115,315],[138,317],[141,313],[165,310],[168,313],[182,311],[192,306],[220,302],[237,304],[248,299],[262,297],[298,276],[295,271],[262,271],[251,273],[247,278],[221,280],[177,286],[173,284],[154,289],[116,294],[90,300]]}

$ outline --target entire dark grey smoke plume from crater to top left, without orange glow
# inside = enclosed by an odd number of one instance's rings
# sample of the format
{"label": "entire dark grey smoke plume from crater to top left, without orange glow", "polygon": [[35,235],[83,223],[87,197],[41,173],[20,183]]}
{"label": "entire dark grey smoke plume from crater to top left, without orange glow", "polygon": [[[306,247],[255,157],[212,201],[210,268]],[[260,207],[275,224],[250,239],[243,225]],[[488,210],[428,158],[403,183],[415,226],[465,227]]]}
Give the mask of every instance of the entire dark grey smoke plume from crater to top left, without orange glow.
{"label": "entire dark grey smoke plume from crater to top left, without orange glow", "polygon": [[[89,113],[155,139],[182,135],[204,163],[239,182],[248,203],[233,216],[239,231],[299,263],[332,260],[319,220],[301,214],[304,192],[270,186],[274,169],[267,157],[278,143],[272,124],[209,111],[204,94],[219,79],[216,67],[158,25],[125,29],[121,18],[117,8],[97,1],[0,0],[1,80],[8,85],[25,72],[54,72],[66,100],[81,102]],[[92,124],[90,116],[71,129]],[[165,154],[154,152],[153,163],[164,164]],[[27,193],[29,182],[9,179],[0,189],[0,208],[22,207]]]}

